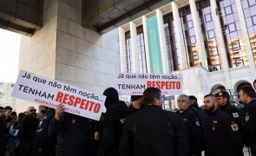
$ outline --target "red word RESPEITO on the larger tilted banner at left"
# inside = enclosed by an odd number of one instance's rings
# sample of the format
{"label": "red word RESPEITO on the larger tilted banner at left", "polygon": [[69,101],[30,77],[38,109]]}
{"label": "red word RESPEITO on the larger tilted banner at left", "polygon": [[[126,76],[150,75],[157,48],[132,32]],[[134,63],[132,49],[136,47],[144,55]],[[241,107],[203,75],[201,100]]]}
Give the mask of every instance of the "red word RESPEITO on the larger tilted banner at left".
{"label": "red word RESPEITO on the larger tilted banner at left", "polygon": [[87,101],[80,97],[75,97],[74,95],[63,94],[62,92],[58,92],[56,95],[56,101],[64,104],[68,104],[72,107],[79,107],[84,110],[93,111],[95,114],[99,113],[101,109],[101,105],[99,103],[95,103],[94,101]]}

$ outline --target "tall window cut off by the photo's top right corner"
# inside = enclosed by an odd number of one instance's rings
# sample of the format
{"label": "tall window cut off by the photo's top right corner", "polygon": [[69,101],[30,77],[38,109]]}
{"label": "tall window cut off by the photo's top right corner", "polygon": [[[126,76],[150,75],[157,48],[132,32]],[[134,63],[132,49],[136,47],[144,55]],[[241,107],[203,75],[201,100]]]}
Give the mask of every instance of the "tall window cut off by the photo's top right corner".
{"label": "tall window cut off by the photo's top right corner", "polygon": [[256,1],[241,0],[241,3],[246,18],[246,27],[253,51],[253,59],[254,63],[256,63]]}

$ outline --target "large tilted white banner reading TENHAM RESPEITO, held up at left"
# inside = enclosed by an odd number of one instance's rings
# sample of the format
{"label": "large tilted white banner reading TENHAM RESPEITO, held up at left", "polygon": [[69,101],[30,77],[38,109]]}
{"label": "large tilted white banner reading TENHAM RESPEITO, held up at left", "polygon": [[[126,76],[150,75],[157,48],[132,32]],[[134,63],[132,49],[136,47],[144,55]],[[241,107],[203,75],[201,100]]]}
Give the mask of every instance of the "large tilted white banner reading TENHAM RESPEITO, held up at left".
{"label": "large tilted white banner reading TENHAM RESPEITO, held up at left", "polygon": [[100,120],[106,111],[106,97],[82,88],[76,88],[60,81],[54,81],[41,75],[21,70],[13,97],[55,108],[62,103],[65,112],[92,120]]}

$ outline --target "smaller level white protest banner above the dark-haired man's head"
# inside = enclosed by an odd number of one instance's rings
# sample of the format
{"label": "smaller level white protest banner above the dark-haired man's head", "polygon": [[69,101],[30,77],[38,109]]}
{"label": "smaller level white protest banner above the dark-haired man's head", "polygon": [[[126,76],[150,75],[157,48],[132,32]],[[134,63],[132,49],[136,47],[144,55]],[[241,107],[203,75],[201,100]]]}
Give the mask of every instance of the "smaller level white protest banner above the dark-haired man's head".
{"label": "smaller level white protest banner above the dark-haired man's head", "polygon": [[120,95],[141,95],[146,88],[160,88],[162,94],[182,94],[182,75],[122,73],[116,77]]}

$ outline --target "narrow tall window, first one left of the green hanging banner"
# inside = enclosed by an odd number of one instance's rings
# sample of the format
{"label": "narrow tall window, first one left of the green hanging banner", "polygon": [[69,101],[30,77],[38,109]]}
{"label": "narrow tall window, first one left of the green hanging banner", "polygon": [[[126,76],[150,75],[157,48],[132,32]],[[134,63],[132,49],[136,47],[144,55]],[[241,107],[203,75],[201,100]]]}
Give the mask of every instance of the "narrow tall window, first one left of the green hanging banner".
{"label": "narrow tall window, first one left of the green hanging banner", "polygon": [[139,67],[141,73],[147,73],[146,50],[142,25],[137,27],[137,45],[139,53]]}

